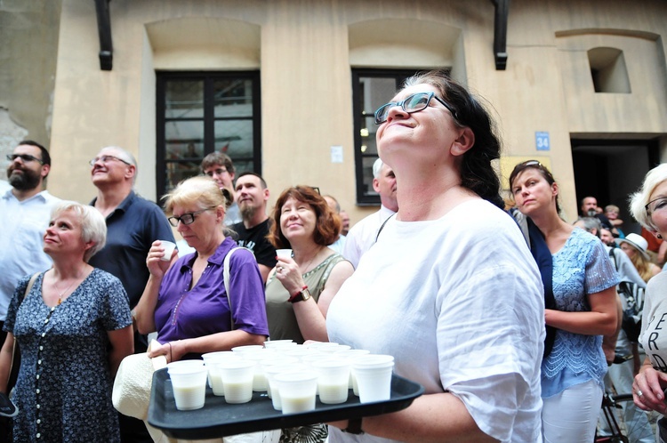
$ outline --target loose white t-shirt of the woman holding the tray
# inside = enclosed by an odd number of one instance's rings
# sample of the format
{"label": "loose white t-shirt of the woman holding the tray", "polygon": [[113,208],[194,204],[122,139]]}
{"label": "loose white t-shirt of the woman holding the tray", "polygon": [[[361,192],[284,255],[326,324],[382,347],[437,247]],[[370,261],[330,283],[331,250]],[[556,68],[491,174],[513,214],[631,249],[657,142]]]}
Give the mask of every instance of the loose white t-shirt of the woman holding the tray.
{"label": "loose white t-shirt of the woman holding the tray", "polygon": [[[426,394],[453,393],[495,439],[541,441],[542,280],[517,224],[494,205],[392,218],[326,326],[332,342],[394,356],[395,373]],[[330,429],[331,443],[388,441]]]}

